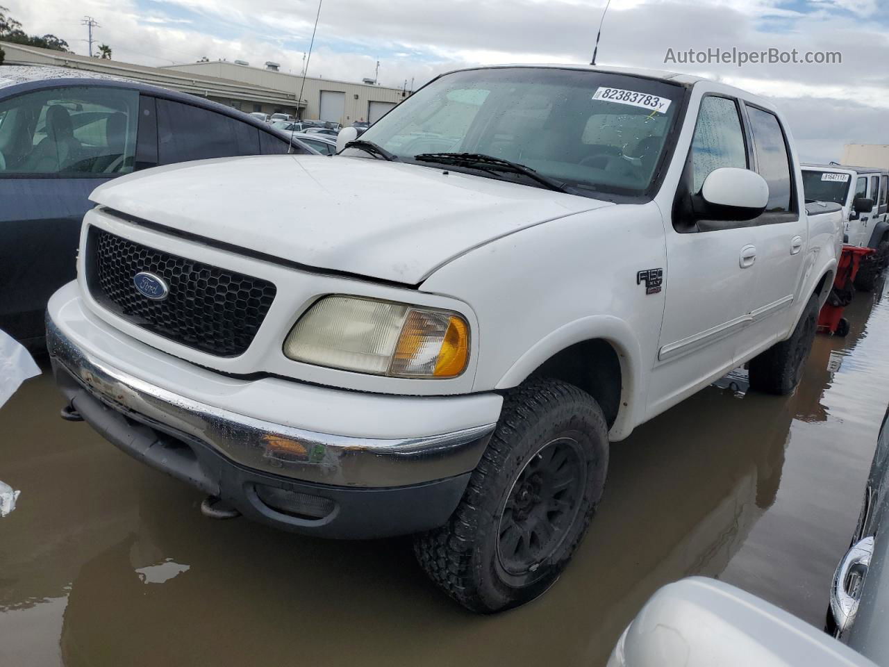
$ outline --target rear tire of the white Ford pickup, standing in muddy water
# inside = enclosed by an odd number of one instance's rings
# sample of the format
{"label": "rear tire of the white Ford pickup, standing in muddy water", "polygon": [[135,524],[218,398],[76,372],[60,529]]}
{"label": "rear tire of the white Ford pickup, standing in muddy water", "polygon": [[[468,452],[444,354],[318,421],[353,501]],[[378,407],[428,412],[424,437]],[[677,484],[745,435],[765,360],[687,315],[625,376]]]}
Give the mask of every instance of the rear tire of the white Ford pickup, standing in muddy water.
{"label": "rear tire of the white Ford pickup, standing in muddy water", "polygon": [[795,390],[803,377],[817,328],[818,296],[813,294],[789,339],[775,343],[750,360],[750,389],[778,396],[786,396]]}

